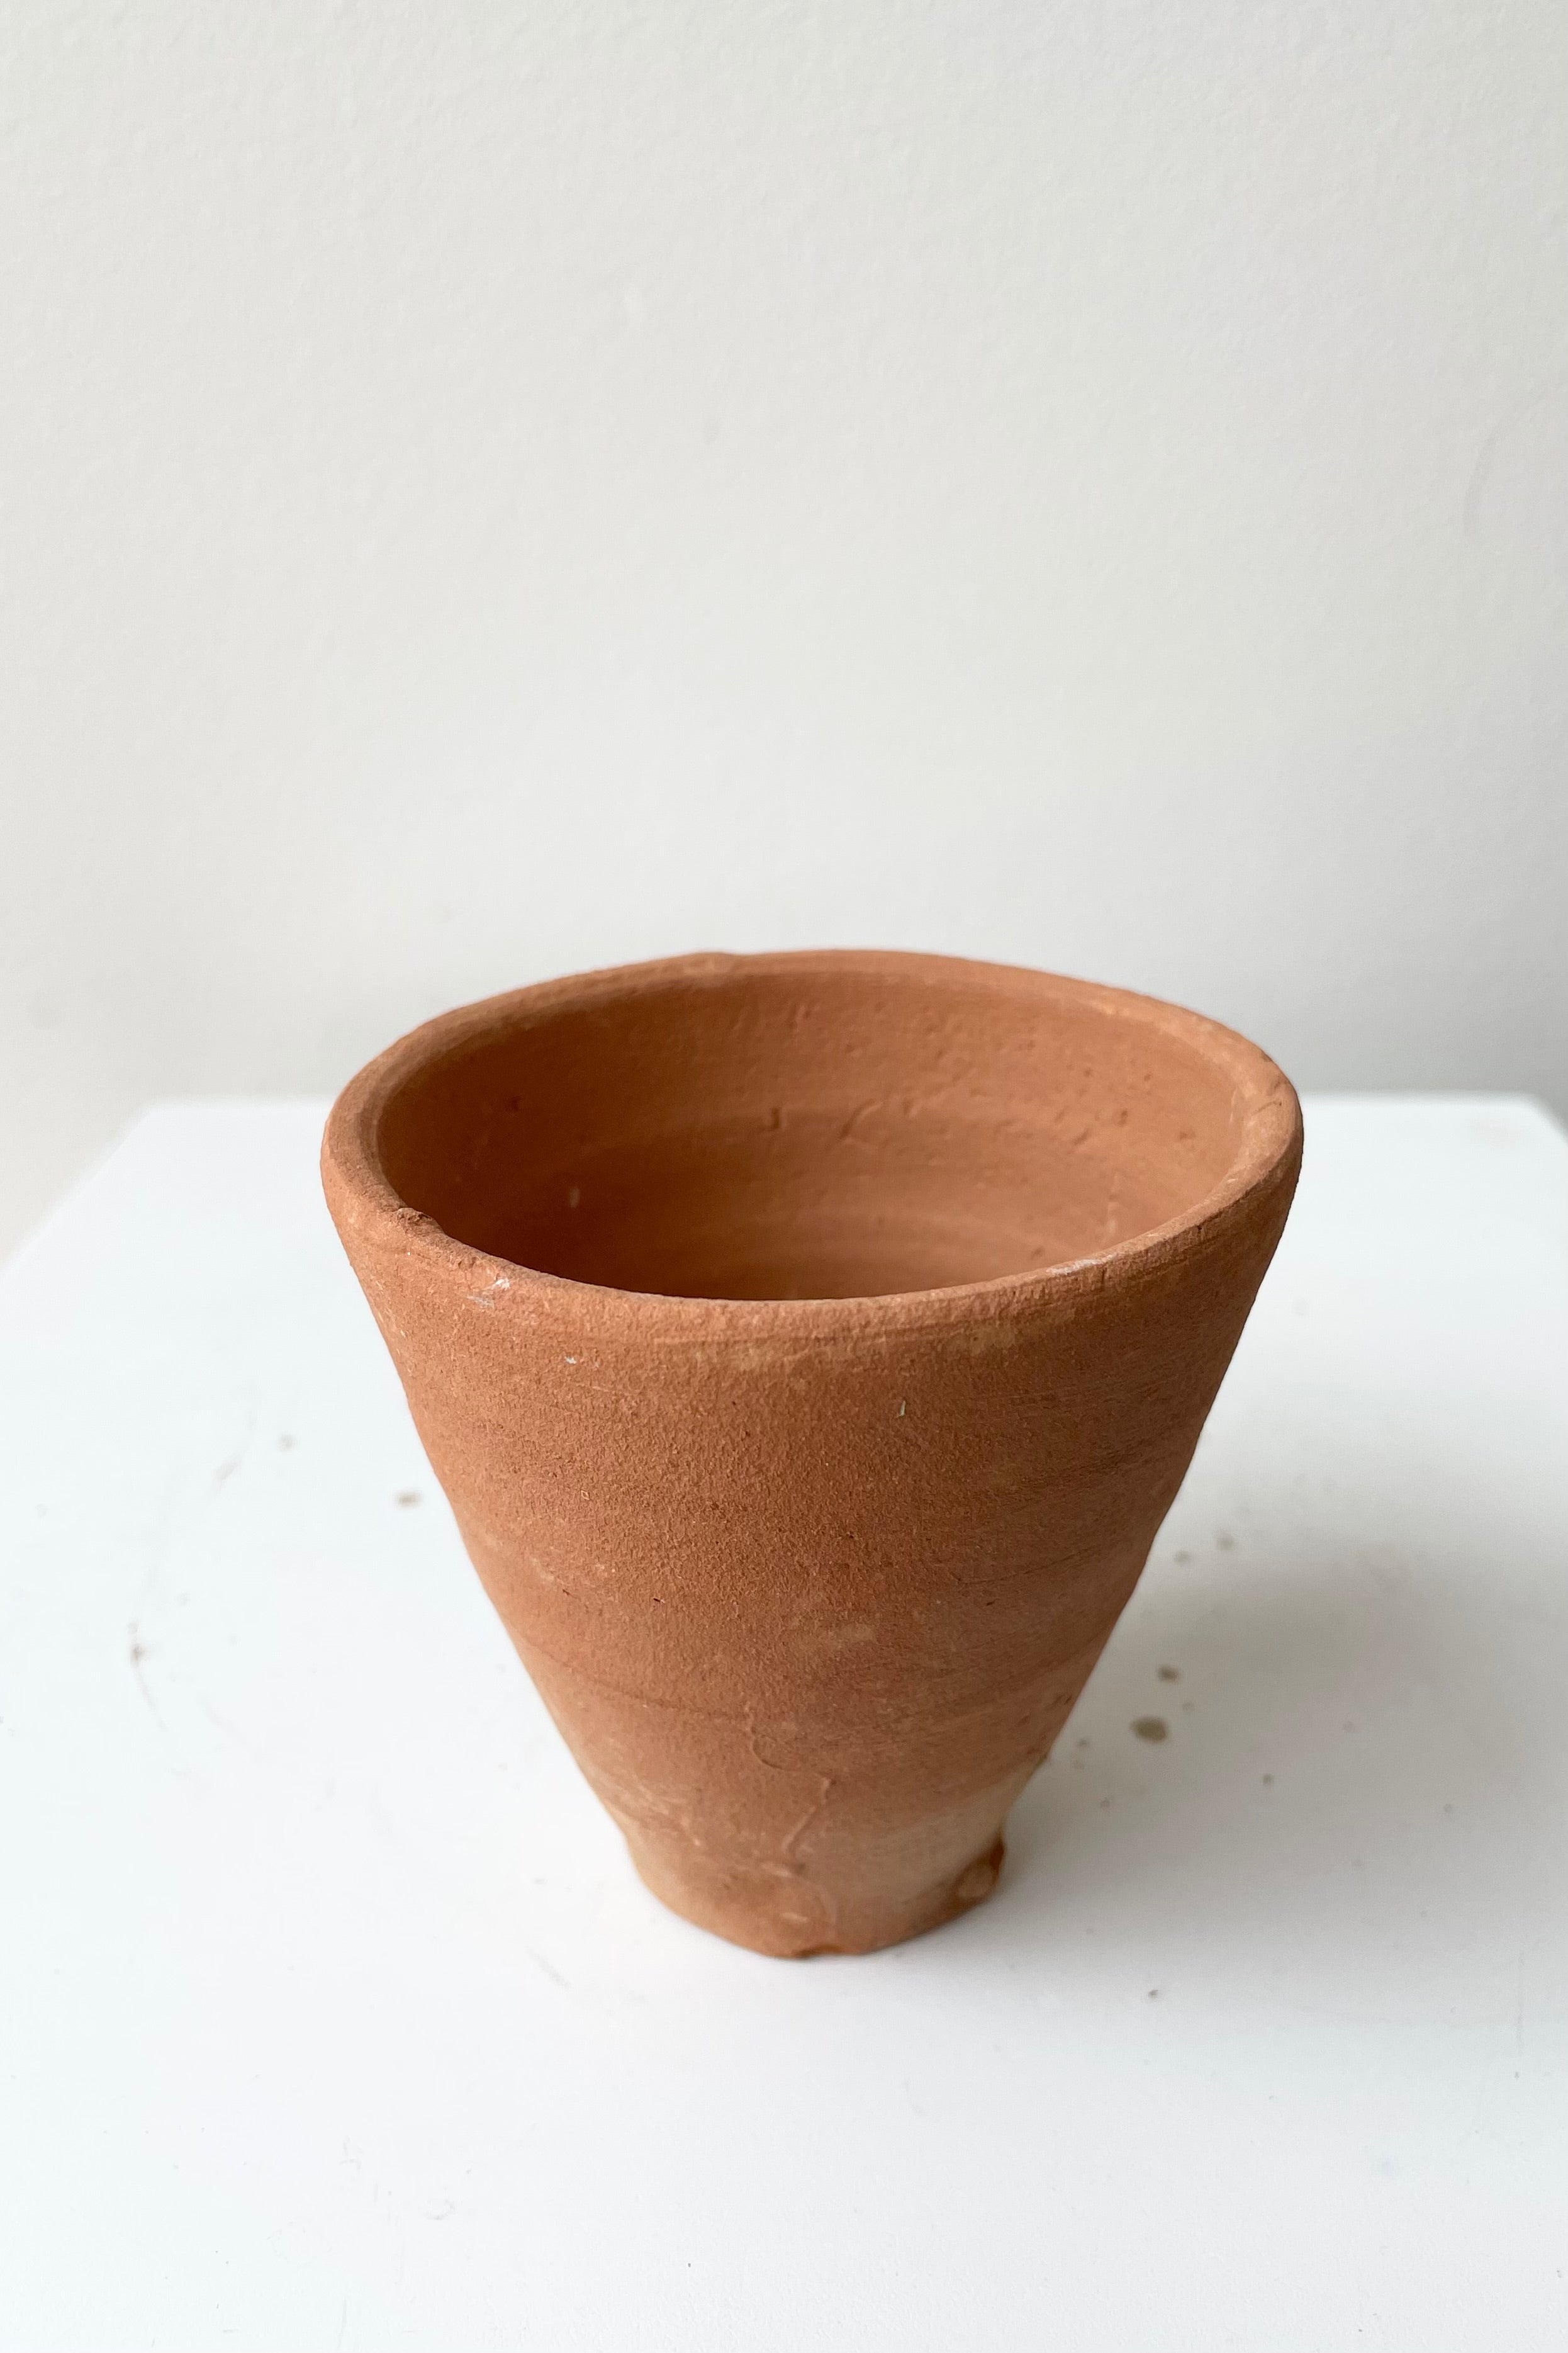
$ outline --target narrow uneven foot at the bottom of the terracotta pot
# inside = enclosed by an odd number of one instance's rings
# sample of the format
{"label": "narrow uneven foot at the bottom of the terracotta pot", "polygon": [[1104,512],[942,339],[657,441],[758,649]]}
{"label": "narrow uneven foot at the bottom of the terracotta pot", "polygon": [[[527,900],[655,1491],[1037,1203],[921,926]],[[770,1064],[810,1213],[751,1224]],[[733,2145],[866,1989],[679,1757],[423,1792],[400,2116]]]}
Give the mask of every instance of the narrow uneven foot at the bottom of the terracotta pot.
{"label": "narrow uneven foot at the bottom of the terracotta pot", "polygon": [[658,1901],[705,1927],[729,1944],[741,1944],[771,1960],[816,1960],[823,1953],[879,1953],[889,1944],[907,1944],[926,1929],[957,1920],[994,1892],[1006,1861],[1006,1840],[997,1835],[954,1878],[903,1901],[842,1901],[795,1873],[741,1878],[736,1873],[703,1875],[691,1866],[661,1868],[658,1852],[628,1840],[637,1878]]}

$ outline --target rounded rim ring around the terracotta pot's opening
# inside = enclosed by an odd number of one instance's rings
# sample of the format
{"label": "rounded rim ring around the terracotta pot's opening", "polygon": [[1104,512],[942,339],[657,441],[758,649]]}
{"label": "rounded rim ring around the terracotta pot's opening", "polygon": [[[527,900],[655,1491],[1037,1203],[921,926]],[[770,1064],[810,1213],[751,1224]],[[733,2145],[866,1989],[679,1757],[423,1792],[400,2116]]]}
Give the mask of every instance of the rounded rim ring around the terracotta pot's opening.
{"label": "rounded rim ring around the terracotta pot's opening", "polygon": [[[487,1031],[510,1026],[520,1012],[550,1014],[559,1007],[607,1002],[642,991],[649,981],[724,981],[738,972],[886,972],[917,976],[1006,984],[1020,998],[1072,1000],[1117,1021],[1135,1021],[1164,1038],[1175,1038],[1225,1071],[1241,1099],[1241,1132],[1225,1174],[1178,1217],[1143,1233],[1112,1242],[1081,1259],[1060,1259],[1023,1273],[987,1275],[980,1282],[954,1282],[919,1292],[882,1292],[865,1299],[691,1299],[675,1292],[623,1292],[574,1275],[552,1275],[515,1259],[477,1249],[449,1235],[425,1209],[393,1188],[381,1165],[381,1115],[393,1094],[428,1061],[463,1047]],[[604,1337],[637,1329],[644,1339],[703,1341],[804,1341],[846,1334],[893,1334],[966,1322],[1011,1322],[1030,1311],[1060,1311],[1103,1294],[1145,1282],[1175,1259],[1215,1242],[1220,1231],[1244,1214],[1246,1202],[1274,1186],[1295,1184],[1302,1144],[1302,1118],[1295,1087],[1284,1071],[1237,1031],[1206,1014],[1168,1005],[1164,998],[1100,981],[1077,981],[1027,965],[994,965],[966,955],[924,955],[905,948],[780,948],[762,955],[670,955],[637,965],[609,965],[595,972],[534,981],[501,995],[458,1005],[421,1021],[407,1035],[364,1064],[348,1080],[327,1118],[322,1136],[322,1176],[327,1179],[339,1221],[348,1219],[364,1238],[378,1228],[383,1240],[442,1268],[463,1294],[484,1308],[531,1313],[576,1332],[597,1329]],[[491,1271],[484,1289],[475,1271]]]}

